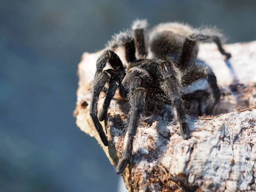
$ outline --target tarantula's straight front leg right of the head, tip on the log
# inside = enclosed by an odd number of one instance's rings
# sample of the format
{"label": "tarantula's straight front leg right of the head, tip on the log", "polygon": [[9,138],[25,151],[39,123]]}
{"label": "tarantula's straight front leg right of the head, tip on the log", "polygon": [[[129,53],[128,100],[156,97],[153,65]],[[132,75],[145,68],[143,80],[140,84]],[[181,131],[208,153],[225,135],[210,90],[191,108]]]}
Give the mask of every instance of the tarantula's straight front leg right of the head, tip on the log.
{"label": "tarantula's straight front leg right of the head, tip on the log", "polygon": [[180,124],[180,134],[184,139],[188,138],[189,129],[186,122],[186,109],[183,107],[183,99],[181,98],[182,87],[180,75],[172,61],[163,60],[159,64],[159,72],[162,81],[161,88],[168,95],[169,101],[176,109],[177,120]]}

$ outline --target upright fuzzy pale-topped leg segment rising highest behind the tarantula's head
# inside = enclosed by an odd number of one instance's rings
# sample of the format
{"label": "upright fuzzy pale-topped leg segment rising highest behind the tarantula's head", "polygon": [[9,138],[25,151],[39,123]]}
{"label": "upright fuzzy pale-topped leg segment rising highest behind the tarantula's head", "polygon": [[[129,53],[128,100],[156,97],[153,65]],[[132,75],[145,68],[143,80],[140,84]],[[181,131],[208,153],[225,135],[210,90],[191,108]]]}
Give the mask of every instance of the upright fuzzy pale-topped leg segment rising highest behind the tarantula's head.
{"label": "upright fuzzy pale-topped leg segment rising highest behind the tarantula's head", "polygon": [[145,30],[147,26],[147,20],[134,20],[134,22],[131,25],[139,58],[145,58],[148,54],[145,45]]}

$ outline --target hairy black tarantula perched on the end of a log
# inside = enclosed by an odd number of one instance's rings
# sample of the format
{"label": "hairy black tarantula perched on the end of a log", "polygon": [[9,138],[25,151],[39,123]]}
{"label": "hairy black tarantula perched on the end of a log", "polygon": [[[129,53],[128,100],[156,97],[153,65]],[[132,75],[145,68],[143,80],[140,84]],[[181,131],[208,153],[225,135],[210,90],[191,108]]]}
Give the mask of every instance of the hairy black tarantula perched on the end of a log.
{"label": "hairy black tarantula perched on the end of a log", "polygon": [[[109,49],[105,50],[96,61],[90,116],[105,146],[108,146],[108,139],[100,121],[107,120],[108,108],[117,90],[119,90],[119,95],[122,98],[127,99],[131,108],[127,145],[116,167],[117,174],[123,172],[125,167],[131,163],[134,136],[137,132],[140,116],[146,109],[161,107],[166,103],[173,105],[176,109],[175,115],[180,126],[180,134],[184,139],[187,139],[189,129],[186,121],[186,109],[183,105],[182,88],[205,77],[211,86],[214,98],[214,101],[209,104],[208,111],[220,98],[215,74],[204,65],[197,65],[193,62],[198,51],[197,43],[204,37],[200,31],[196,34],[188,33],[186,35],[183,33],[182,35],[166,33],[169,36],[166,36],[165,33],[164,35],[154,33],[156,35],[153,35],[153,38],[149,40],[148,46],[151,56],[154,54],[154,57],[147,58],[146,26],[145,20],[137,20],[132,25],[132,32],[128,30],[113,36],[108,44]],[[154,44],[158,44],[158,48],[154,48]],[[127,68],[124,67],[119,56],[114,52],[119,46],[123,46],[125,49]],[[219,49],[220,47],[221,44],[219,44]],[[160,49],[163,52],[158,52]],[[222,47],[220,50],[223,50]],[[139,58],[136,58],[136,51]],[[226,54],[224,51],[223,53]],[[173,54],[177,54],[175,55],[177,58],[172,61]],[[163,55],[172,58],[163,57]],[[103,70],[107,62],[112,69]],[[108,84],[107,87],[106,84]],[[99,94],[102,91],[106,93],[106,97],[98,118],[97,105]]]}

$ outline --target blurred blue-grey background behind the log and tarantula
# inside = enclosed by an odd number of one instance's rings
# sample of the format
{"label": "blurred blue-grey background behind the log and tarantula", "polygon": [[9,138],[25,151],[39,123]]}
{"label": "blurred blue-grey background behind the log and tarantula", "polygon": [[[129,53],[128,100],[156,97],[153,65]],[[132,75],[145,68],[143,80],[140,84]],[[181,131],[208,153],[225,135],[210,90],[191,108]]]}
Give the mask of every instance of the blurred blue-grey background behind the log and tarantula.
{"label": "blurred blue-grey background behind the log and tarantula", "polygon": [[76,126],[77,64],[111,35],[212,24],[228,43],[256,40],[255,0],[0,0],[0,192],[116,192],[119,176]]}

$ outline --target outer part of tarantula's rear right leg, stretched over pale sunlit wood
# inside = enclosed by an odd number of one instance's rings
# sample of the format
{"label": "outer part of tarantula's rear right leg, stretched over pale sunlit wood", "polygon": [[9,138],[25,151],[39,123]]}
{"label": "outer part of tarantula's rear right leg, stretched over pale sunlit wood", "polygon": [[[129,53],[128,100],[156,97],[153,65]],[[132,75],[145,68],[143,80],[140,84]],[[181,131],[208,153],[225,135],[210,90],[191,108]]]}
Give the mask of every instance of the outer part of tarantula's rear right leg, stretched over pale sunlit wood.
{"label": "outer part of tarantula's rear right leg, stretched over pale sunlit wood", "polygon": [[196,38],[198,41],[213,41],[218,46],[221,54],[226,56],[226,59],[231,57],[231,54],[223,49],[219,35],[213,35],[211,32],[207,34],[207,32],[201,32],[199,30],[199,32],[192,33],[189,37]]}

